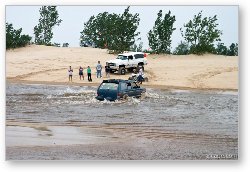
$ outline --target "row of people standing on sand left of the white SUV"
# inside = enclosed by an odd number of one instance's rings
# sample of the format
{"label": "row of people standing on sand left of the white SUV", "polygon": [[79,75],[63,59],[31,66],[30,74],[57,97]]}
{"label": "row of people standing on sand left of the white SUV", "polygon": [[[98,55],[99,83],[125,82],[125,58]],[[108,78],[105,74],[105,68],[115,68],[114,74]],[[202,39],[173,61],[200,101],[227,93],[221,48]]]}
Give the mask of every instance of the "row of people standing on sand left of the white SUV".
{"label": "row of people standing on sand left of the white SUV", "polygon": [[[80,66],[79,67],[80,80],[84,80],[83,70],[84,70],[83,67]],[[109,66],[105,66],[105,72],[106,72],[106,77],[109,78],[110,77],[110,67]],[[70,81],[72,82],[73,69],[71,66],[69,66],[68,74],[69,74],[69,82]],[[88,75],[88,81],[92,82],[91,68],[89,66],[87,67],[87,75]],[[102,65],[101,65],[100,61],[98,61],[97,65],[96,65],[96,77],[102,78]]]}

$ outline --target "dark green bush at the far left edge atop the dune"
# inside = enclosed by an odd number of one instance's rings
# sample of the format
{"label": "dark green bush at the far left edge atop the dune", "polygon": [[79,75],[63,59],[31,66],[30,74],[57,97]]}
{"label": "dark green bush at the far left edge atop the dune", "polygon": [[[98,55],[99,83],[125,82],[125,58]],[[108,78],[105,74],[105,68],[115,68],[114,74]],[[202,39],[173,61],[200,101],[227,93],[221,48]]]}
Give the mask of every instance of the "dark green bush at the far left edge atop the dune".
{"label": "dark green bush at the far left edge atop the dune", "polygon": [[6,23],[6,49],[24,47],[30,43],[29,35],[21,35],[22,28],[15,30],[12,24]]}

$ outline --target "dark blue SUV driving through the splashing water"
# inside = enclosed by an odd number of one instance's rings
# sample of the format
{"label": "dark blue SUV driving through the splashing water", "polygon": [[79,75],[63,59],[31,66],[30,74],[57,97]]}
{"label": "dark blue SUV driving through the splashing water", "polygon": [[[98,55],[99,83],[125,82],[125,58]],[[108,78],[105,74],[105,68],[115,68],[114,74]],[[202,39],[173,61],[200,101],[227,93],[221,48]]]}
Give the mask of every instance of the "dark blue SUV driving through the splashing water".
{"label": "dark blue SUV driving through the splashing water", "polygon": [[141,97],[146,92],[135,81],[122,79],[103,80],[97,89],[97,100],[115,101],[116,99],[126,99],[127,97]]}

